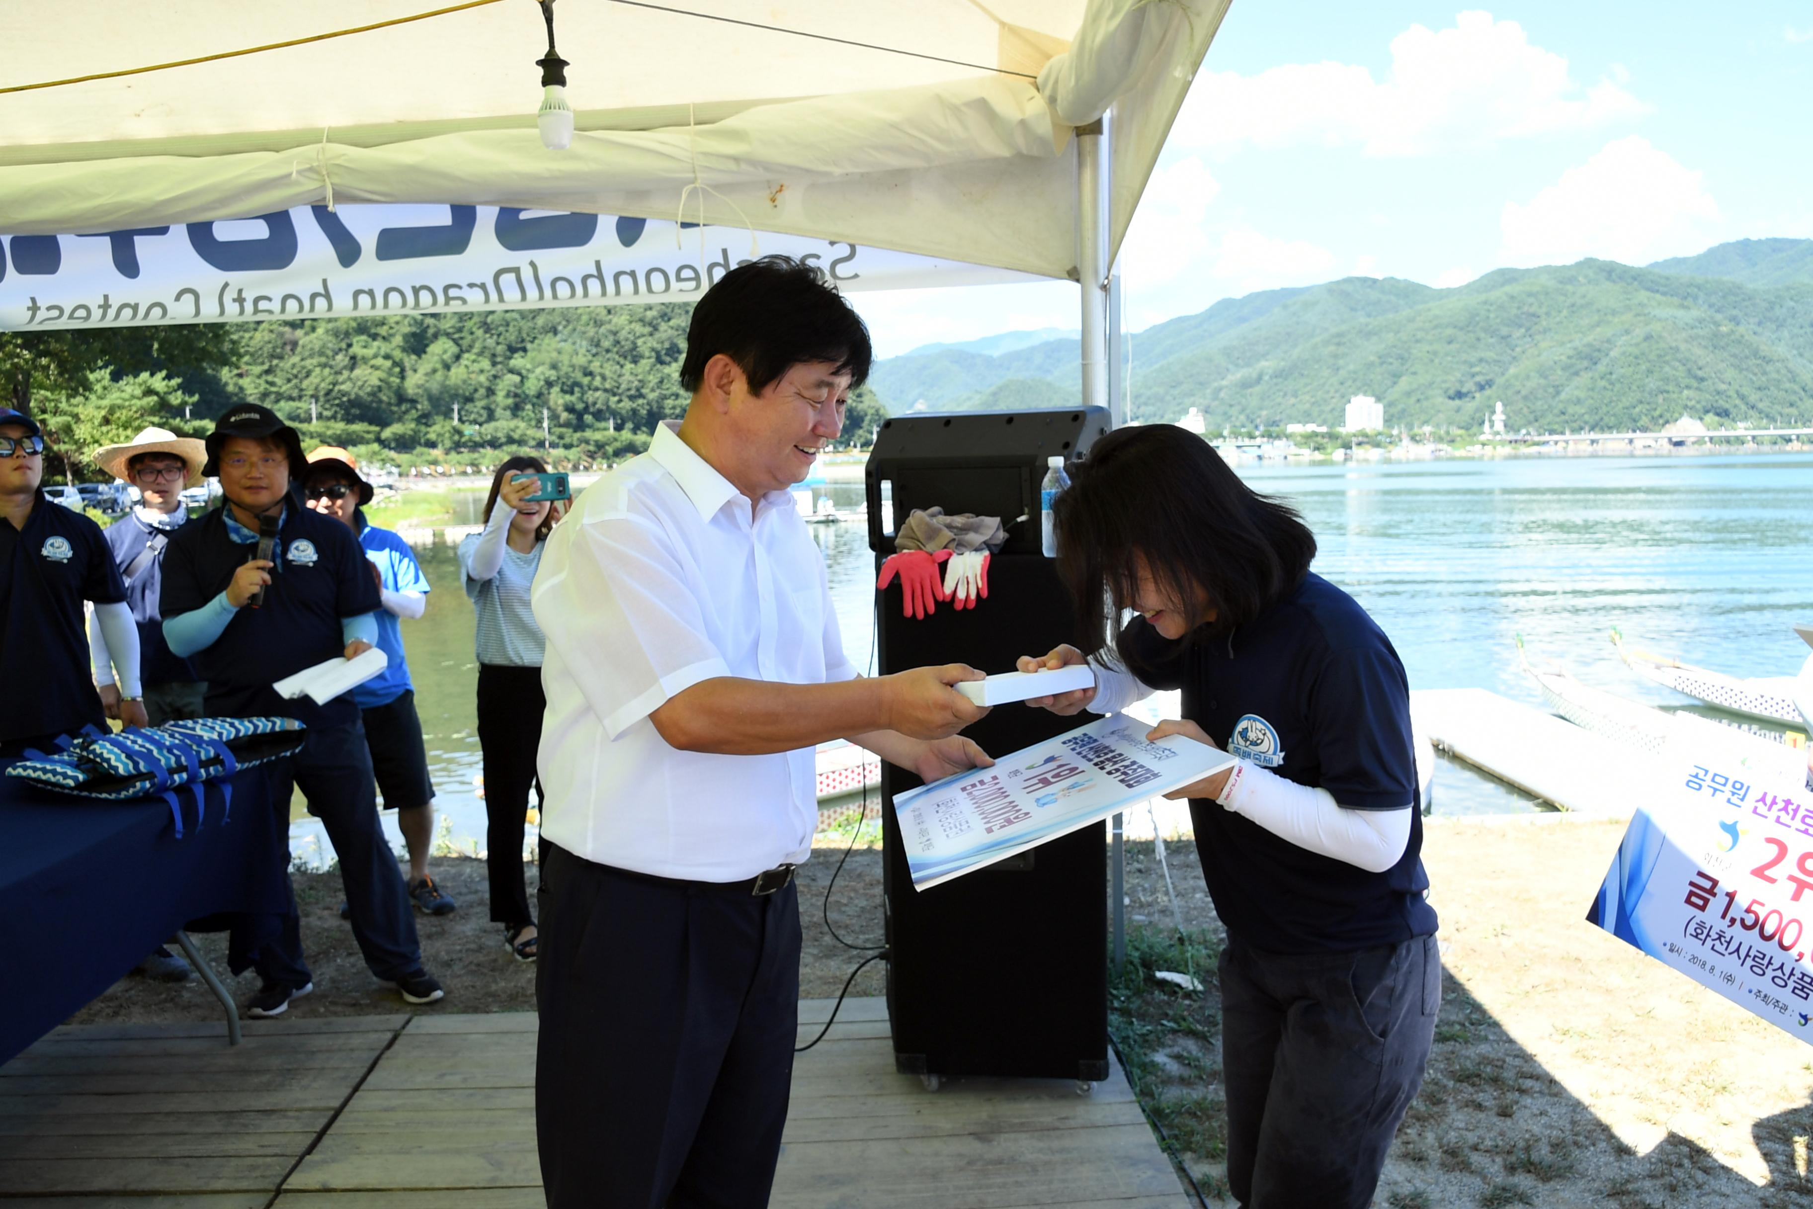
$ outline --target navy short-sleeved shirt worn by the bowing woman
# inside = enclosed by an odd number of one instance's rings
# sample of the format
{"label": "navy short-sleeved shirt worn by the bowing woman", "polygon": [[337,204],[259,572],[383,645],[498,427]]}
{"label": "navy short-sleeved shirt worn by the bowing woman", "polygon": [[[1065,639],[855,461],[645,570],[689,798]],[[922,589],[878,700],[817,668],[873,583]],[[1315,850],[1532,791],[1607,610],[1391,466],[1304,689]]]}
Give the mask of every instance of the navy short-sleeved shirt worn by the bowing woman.
{"label": "navy short-sleeved shirt worn by the bowing woman", "polygon": [[1391,640],[1352,596],[1305,575],[1231,634],[1169,642],[1135,618],[1126,638],[1129,671],[1153,689],[1180,689],[1184,716],[1229,752],[1354,810],[1411,810],[1403,857],[1372,874],[1215,801],[1191,801],[1197,854],[1229,935],[1275,953],[1314,953],[1434,933],[1411,687]]}

